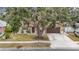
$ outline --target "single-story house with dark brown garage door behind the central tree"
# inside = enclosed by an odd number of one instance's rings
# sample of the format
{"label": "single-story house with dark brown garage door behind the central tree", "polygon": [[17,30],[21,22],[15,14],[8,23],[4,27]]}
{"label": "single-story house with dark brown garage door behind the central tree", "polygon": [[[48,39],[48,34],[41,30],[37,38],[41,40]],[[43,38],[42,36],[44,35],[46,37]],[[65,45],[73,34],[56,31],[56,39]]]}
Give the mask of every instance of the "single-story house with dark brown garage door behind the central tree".
{"label": "single-story house with dark brown garage door behind the central tree", "polygon": [[[22,27],[20,27],[20,29],[22,30],[22,32],[18,31],[18,34],[23,33],[23,34],[33,34],[33,35],[35,34],[36,35],[36,33],[37,33],[37,31],[36,31],[37,29],[35,28],[34,22],[31,22],[29,24],[29,28],[28,28],[27,24],[24,25],[23,22],[22,22]],[[60,29],[61,29],[60,25],[57,22],[55,24],[55,27],[48,27],[47,29],[44,30],[43,34],[46,34],[46,33],[60,33]]]}

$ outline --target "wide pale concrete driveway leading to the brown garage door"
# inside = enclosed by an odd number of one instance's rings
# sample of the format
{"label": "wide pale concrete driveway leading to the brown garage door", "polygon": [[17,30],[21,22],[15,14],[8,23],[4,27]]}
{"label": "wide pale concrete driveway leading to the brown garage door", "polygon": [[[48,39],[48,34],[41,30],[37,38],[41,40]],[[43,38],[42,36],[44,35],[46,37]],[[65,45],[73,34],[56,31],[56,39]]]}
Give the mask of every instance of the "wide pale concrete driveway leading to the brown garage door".
{"label": "wide pale concrete driveway leading to the brown garage door", "polygon": [[48,34],[49,40],[51,42],[51,48],[58,49],[79,49],[79,45],[74,43],[65,34]]}

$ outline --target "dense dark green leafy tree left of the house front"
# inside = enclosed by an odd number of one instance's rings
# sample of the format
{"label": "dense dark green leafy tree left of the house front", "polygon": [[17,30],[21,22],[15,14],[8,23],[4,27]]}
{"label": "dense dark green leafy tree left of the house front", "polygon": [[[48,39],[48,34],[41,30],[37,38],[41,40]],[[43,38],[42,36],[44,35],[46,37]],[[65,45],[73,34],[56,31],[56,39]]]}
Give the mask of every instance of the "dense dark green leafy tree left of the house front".
{"label": "dense dark green leafy tree left of the house front", "polygon": [[7,13],[3,15],[3,18],[12,26],[13,32],[17,33],[20,29],[20,31],[22,31],[24,22],[29,17],[28,9],[29,8],[23,7],[13,7],[6,9]]}

